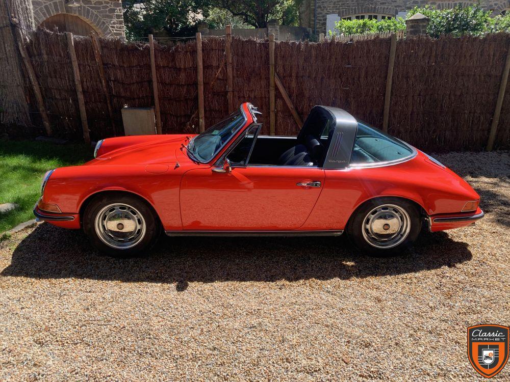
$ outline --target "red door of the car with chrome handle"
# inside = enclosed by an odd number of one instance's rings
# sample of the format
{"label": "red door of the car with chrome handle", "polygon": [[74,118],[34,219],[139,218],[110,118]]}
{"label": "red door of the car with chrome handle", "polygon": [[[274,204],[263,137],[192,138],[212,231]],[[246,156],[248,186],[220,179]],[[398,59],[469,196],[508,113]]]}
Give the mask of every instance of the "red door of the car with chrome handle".
{"label": "red door of the car with chrome handle", "polygon": [[184,230],[295,230],[324,184],[317,167],[247,166],[218,173],[192,169],[181,181]]}

